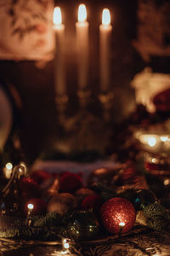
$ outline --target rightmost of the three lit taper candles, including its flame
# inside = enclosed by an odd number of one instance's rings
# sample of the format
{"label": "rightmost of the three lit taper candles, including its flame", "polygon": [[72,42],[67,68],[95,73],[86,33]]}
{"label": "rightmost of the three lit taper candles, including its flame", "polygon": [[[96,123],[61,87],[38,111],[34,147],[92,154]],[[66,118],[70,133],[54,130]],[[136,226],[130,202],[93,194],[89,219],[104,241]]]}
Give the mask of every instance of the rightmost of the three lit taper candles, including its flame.
{"label": "rightmost of the three lit taper candles, including its flame", "polygon": [[102,91],[108,90],[111,84],[111,32],[110,11],[103,9],[102,24],[99,26],[100,86]]}

